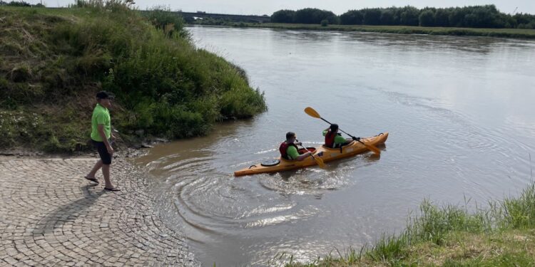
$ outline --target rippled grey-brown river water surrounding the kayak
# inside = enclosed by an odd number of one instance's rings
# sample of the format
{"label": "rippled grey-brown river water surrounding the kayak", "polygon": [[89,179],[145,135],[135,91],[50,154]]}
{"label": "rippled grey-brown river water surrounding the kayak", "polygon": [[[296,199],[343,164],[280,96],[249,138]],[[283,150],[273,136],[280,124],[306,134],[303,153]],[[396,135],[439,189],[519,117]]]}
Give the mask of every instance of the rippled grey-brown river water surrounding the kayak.
{"label": "rippled grey-brown river water surrounding the kayak", "polygon": [[[422,199],[469,206],[516,195],[535,160],[535,42],[500,38],[193,27],[198,47],[244,68],[269,110],[137,159],[167,224],[203,266],[265,266],[359,248],[403,229]],[[322,142],[325,122],[370,153],[280,174],[233,177],[277,156],[285,132]]]}

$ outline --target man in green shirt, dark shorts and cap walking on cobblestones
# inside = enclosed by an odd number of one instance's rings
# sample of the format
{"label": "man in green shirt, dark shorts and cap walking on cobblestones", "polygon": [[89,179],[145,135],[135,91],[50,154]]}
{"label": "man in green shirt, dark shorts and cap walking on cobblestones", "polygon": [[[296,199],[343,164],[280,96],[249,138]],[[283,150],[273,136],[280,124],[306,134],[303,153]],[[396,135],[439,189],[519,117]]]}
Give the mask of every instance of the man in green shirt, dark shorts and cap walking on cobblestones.
{"label": "man in green shirt, dark shorts and cap walking on cobblestones", "polygon": [[98,184],[95,174],[98,169],[102,168],[102,175],[106,183],[104,190],[115,192],[121,191],[121,189],[113,187],[110,179],[111,156],[113,155],[113,147],[111,147],[110,139],[115,139],[111,134],[111,117],[110,111],[108,110],[111,108],[111,98],[113,98],[113,95],[105,91],[96,94],[97,104],[91,116],[91,142],[96,147],[101,159],[96,162],[91,172],[85,178]]}

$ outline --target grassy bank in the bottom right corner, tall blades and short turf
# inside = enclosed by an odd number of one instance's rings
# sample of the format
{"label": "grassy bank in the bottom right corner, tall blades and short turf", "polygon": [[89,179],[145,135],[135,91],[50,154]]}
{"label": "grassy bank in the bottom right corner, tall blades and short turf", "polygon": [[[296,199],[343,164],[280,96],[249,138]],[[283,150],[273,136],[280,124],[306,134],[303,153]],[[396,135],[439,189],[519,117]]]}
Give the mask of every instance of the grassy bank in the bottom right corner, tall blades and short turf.
{"label": "grassy bank in the bottom right corner, tall blades and short turf", "polygon": [[519,197],[468,211],[423,201],[401,234],[374,246],[334,251],[311,263],[285,266],[535,266],[535,184]]}

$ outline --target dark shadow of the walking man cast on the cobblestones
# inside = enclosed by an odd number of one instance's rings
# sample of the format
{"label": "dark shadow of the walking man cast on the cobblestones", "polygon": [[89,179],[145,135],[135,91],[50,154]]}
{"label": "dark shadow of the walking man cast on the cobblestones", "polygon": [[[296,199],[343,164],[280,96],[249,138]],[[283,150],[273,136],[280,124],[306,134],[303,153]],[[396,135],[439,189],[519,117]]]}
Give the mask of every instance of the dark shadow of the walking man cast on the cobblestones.
{"label": "dark shadow of the walking man cast on the cobblestones", "polygon": [[32,234],[36,236],[51,233],[54,232],[54,229],[63,227],[63,224],[66,224],[66,222],[76,220],[80,215],[84,214],[84,211],[89,206],[92,206],[95,201],[104,194],[103,190],[90,190],[96,186],[97,184],[88,184],[81,187],[81,191],[83,192],[83,197],[81,199],[64,204],[63,206],[59,206],[56,210],[51,211],[51,213],[39,220],[37,223],[38,227],[34,229]]}

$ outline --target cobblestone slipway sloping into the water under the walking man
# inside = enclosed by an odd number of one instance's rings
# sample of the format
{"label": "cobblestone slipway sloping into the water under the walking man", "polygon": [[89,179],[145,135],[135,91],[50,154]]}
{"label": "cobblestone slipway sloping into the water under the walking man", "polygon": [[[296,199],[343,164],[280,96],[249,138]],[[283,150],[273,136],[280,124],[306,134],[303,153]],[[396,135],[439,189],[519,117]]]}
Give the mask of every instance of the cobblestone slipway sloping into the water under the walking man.
{"label": "cobblestone slipway sloping into the water under the walking man", "polygon": [[0,158],[0,266],[196,266],[164,226],[146,174],[119,159],[104,192],[96,159]]}

